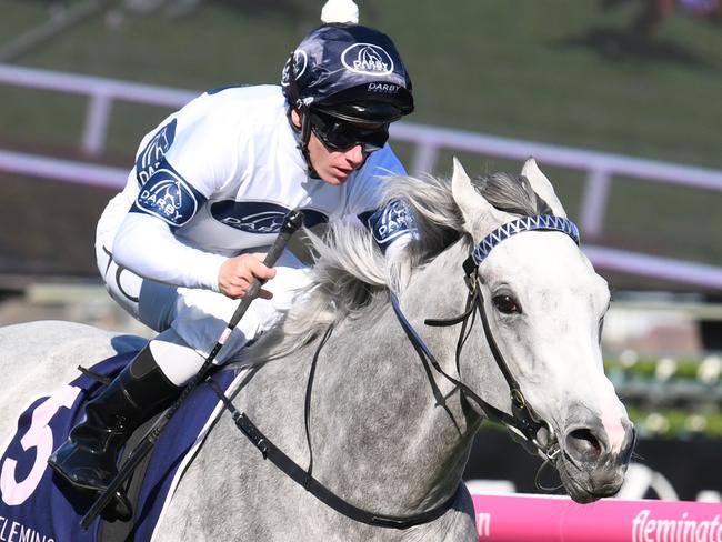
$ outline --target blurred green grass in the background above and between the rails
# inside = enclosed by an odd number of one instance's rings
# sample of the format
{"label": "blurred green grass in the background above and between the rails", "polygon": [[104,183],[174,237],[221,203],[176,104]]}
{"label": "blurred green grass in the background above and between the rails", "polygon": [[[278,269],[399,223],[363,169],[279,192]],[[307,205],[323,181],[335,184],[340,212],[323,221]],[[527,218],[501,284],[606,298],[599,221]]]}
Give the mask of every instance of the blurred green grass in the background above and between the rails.
{"label": "blurred green grass in the background above and between the rails", "polygon": [[[315,4],[295,4],[293,14],[205,2],[184,18],[124,16],[121,24],[109,24],[96,17],[13,61],[199,91],[277,82],[289,51],[317,24]],[[678,14],[650,46],[671,53],[655,57],[614,53],[609,43],[579,44],[593,29],[622,29],[634,2],[613,12],[602,12],[595,1],[564,0],[360,4],[362,19],[390,33],[407,60],[417,97],[411,121],[722,169],[722,26]],[[43,6],[0,0],[2,41],[40,23]],[[0,87],[0,141],[76,144],[81,112],[78,98]],[[167,113],[116,104],[109,154],[130,157]],[[408,160],[409,150],[400,151]],[[472,173],[520,168],[492,157],[462,158]],[[443,153],[439,169],[449,168],[450,153]],[[583,174],[549,173],[575,217]],[[613,187],[610,241],[719,264],[721,195],[624,179]]]}

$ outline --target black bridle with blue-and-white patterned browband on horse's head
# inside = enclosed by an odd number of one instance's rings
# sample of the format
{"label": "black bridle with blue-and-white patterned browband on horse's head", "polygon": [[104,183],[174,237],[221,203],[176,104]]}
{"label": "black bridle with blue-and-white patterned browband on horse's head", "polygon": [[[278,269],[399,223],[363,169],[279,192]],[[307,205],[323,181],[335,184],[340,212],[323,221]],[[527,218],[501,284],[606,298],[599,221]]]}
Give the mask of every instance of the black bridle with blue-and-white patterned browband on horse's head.
{"label": "black bridle with blue-and-white patterned browband on horse's head", "polygon": [[527,402],[519,382],[517,379],[514,379],[513,374],[509,370],[509,364],[504,360],[501,350],[499,350],[499,345],[497,344],[494,335],[491,331],[491,327],[489,325],[487,311],[484,310],[484,299],[481,291],[481,279],[479,275],[479,265],[484,261],[484,259],[489,255],[494,247],[497,247],[505,239],[515,235],[517,233],[532,230],[560,231],[572,238],[576,244],[579,244],[580,241],[579,229],[571,220],[568,220],[563,217],[554,217],[551,214],[525,217],[499,227],[481,240],[481,242],[471,252],[471,255],[462,264],[464,270],[464,282],[469,288],[464,312],[459,317],[448,320],[428,319],[424,321],[427,325],[433,327],[448,327],[461,323],[461,331],[459,333],[459,340],[457,342],[457,373],[460,375],[459,378],[461,378],[461,351],[474,324],[475,314],[479,313],[489,348],[494,357],[499,370],[503,374],[504,380],[509,385],[511,397],[511,415],[488,403],[467,384],[461,382],[459,379],[451,377],[443,369],[441,369],[441,365],[431,353],[427,344],[423,342],[423,339],[421,339],[409,320],[403,315],[403,312],[401,311],[401,307],[399,304],[399,299],[394,293],[391,294],[391,305],[393,307],[397,318],[399,319],[401,327],[407,333],[409,341],[413,344],[417,353],[419,354],[419,358],[424,364],[431,364],[437,370],[437,372],[439,372],[447,380],[458,387],[465,397],[472,399],[479,405],[479,408],[481,408],[481,410],[489,419],[502,423],[511,431],[524,439],[527,442],[531,443],[543,459],[553,460],[560,451],[559,444],[554,442],[548,445],[542,445],[537,440],[537,434],[539,433],[540,429],[546,429],[550,434],[553,434],[553,429],[549,425],[549,423],[541,420],[535,414],[532,406]]}

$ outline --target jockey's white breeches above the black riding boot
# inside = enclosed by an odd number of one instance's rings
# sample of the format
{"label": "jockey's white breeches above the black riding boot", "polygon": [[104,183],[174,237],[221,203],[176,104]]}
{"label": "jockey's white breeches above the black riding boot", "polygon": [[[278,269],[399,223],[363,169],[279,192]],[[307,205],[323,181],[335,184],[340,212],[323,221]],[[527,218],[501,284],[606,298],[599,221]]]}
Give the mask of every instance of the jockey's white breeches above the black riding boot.
{"label": "jockey's white breeches above the black riding boot", "polygon": [[[96,250],[98,269],[113,300],[160,335],[151,341],[153,358],[177,385],[190,380],[213,349],[239,300],[209,290],[178,288],[142,279],[112,260],[103,247]],[[310,282],[308,269],[285,251],[275,277],[264,284],[273,299],[255,299],[215,358],[228,361],[247,342],[269,330]]]}

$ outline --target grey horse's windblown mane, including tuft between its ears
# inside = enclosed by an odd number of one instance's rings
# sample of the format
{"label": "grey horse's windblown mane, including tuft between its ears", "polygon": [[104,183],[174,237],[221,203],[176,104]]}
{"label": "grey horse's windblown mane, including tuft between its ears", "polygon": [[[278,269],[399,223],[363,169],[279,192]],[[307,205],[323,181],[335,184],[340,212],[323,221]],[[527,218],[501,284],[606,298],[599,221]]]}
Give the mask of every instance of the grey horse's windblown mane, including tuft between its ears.
{"label": "grey horse's windblown mane, including tuft between its ears", "polygon": [[[497,209],[518,214],[552,214],[525,177],[493,173],[472,184]],[[403,201],[413,215],[417,234],[402,250],[384,257],[371,232],[359,220],[339,220],[322,237],[307,232],[315,252],[313,282],[302,292],[281,325],[241,352],[241,363],[259,363],[298,349],[343,319],[374,314],[388,303],[388,290],[401,291],[413,269],[433,259],[451,243],[471,239],[451,193],[451,179],[393,177],[388,179],[384,204]]]}

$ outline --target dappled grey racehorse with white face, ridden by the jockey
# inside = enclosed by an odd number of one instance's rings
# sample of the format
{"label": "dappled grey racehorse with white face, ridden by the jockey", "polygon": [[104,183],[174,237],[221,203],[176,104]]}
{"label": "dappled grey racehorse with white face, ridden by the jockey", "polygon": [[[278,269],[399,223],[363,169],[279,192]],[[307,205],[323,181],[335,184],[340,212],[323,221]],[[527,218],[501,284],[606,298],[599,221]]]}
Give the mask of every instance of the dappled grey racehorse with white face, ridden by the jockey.
{"label": "dappled grey racehorse with white face, ridden by the jockey", "polygon": [[[354,222],[311,235],[318,260],[304,301],[231,363],[238,377],[227,393],[291,461],[307,469],[312,456],[313,479],[340,500],[384,516],[439,513],[405,529],[355,521],[264,460],[224,411],[153,540],[477,540],[464,465],[482,421],[494,412],[511,420],[503,416],[519,411],[520,400],[532,429],[512,430],[555,466],[572,499],[591,502],[620,489],[634,438],[603,373],[605,281],[563,231],[497,239],[464,280],[462,262],[491,232],[524,217],[565,217],[535,162],[519,177],[471,180],[454,161],[451,179],[388,184],[387,198],[413,213],[415,239],[384,258]],[[494,347],[482,324],[467,319],[458,348],[472,282]],[[72,380],[78,363],[139,341],[66,322],[1,329],[3,378],[14,385],[0,398],[0,441],[14,430],[8,413],[29,398]],[[519,393],[510,393],[494,350]]]}

